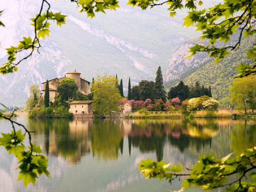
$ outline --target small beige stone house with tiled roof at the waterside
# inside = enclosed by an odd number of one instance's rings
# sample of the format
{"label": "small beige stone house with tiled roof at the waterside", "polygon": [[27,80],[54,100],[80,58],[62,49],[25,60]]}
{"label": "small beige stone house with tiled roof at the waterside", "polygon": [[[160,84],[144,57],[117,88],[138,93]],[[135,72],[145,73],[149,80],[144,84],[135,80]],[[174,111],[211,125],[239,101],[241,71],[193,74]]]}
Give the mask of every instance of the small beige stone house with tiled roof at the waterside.
{"label": "small beige stone house with tiled roof at the waterside", "polygon": [[73,101],[69,103],[69,112],[73,115],[91,115],[92,111],[92,101]]}

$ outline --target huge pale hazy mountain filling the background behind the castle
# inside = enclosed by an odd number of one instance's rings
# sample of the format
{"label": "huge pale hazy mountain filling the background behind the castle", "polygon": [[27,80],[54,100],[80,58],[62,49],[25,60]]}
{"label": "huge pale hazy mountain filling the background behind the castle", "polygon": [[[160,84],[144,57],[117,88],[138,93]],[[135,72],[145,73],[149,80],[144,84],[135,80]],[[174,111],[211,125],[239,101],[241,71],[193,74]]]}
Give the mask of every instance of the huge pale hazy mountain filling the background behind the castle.
{"label": "huge pale hazy mountain filling the background behind the castle", "polygon": [[[0,102],[23,106],[31,84],[62,77],[77,69],[85,79],[108,73],[123,79],[124,91],[141,79],[154,80],[158,66],[164,71],[169,57],[184,42],[198,36],[194,28],[183,28],[185,11],[174,19],[166,7],[146,11],[120,3],[117,11],[97,13],[88,19],[77,13],[75,3],[50,1],[51,9],[68,15],[66,25],[51,25],[50,37],[41,41],[42,48],[18,65],[13,74],[0,75]],[[6,50],[23,36],[33,36],[30,18],[39,12],[33,0],[2,0],[4,13],[0,27],[0,63],[6,61]],[[25,56],[25,54],[22,54]]]}

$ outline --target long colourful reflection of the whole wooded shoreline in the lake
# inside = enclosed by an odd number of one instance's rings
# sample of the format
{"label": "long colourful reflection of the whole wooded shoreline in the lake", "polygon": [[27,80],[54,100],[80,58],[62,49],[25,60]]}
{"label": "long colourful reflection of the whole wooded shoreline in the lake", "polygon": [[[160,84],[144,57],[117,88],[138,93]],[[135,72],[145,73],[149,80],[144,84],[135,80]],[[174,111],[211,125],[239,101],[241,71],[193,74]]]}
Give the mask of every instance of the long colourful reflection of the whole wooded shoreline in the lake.
{"label": "long colourful reflection of the whole wooded shoreline in the lake", "polygon": [[47,155],[79,163],[90,152],[98,160],[117,160],[123,155],[125,138],[130,156],[131,149],[138,148],[142,154],[155,153],[160,161],[165,143],[176,146],[181,153],[189,149],[197,154],[200,150],[211,149],[212,138],[219,130],[229,130],[233,124],[230,145],[240,153],[256,144],[255,123],[244,122],[233,123],[232,119],[37,119],[29,120],[27,127],[36,129],[33,142],[41,144]]}

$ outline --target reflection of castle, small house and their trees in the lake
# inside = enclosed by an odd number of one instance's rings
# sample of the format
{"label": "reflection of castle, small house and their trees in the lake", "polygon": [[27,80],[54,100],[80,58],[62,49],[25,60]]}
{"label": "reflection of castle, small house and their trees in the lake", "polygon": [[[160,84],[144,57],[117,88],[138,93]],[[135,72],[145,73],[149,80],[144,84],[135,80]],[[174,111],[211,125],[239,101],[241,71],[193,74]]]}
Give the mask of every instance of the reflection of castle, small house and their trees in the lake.
{"label": "reflection of castle, small house and their trees in the lake", "polygon": [[81,157],[90,153],[92,123],[90,119],[31,119],[27,127],[35,129],[33,142],[42,145],[46,155],[62,156],[68,163],[79,163]]}

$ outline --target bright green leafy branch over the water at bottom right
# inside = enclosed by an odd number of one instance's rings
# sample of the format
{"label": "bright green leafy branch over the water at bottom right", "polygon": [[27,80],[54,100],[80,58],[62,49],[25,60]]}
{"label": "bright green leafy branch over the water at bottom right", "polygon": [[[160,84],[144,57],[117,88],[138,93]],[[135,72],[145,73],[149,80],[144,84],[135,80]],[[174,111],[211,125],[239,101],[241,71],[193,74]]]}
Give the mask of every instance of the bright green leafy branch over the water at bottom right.
{"label": "bright green leafy branch over the water at bottom right", "polygon": [[[199,157],[199,161],[194,167],[187,168],[190,173],[185,173],[183,171],[185,167],[182,167],[181,164],[171,166],[171,163],[157,162],[149,158],[142,160],[139,167],[146,179],[158,178],[171,182],[171,180],[186,176],[180,191],[191,187],[201,187],[203,190],[226,187],[227,191],[254,191],[256,189],[256,173],[248,172],[256,168],[256,147],[230,158],[232,154],[220,159],[213,154]],[[238,179],[230,182],[228,178],[237,173],[240,175]],[[243,181],[247,177],[253,182]]]}

